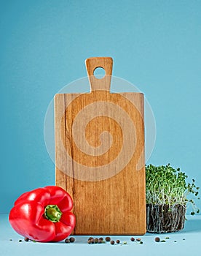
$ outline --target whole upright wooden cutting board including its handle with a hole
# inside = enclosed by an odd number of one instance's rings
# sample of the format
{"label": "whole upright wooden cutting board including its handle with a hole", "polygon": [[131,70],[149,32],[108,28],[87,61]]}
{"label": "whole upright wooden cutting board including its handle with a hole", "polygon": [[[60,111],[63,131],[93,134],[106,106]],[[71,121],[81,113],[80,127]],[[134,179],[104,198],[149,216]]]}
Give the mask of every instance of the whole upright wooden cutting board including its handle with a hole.
{"label": "whole upright wooden cutting board including its handle with a hole", "polygon": [[[110,92],[111,58],[85,63],[90,93],[55,95],[56,185],[74,200],[75,235],[142,235],[143,94]],[[104,78],[93,75],[97,67]]]}

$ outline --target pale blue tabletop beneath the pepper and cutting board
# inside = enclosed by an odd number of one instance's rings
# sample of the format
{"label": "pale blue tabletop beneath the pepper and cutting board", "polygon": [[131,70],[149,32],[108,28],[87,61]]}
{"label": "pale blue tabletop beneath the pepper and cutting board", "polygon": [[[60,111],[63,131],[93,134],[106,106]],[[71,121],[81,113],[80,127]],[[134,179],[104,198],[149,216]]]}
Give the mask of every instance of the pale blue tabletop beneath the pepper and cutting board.
{"label": "pale blue tabletop beneath the pepper and cutting board", "polygon": [[[141,238],[143,244],[131,242],[130,236],[111,236],[113,240],[127,241],[127,244],[87,244],[89,236],[74,236],[76,241],[71,244],[25,242],[23,237],[15,233],[9,225],[8,214],[0,214],[0,255],[201,255],[201,216],[187,216],[184,230],[177,233],[150,234],[134,236]],[[118,225],[118,224],[117,224]],[[154,238],[165,239],[166,242],[156,243]],[[98,237],[98,236],[95,236]],[[103,236],[104,237],[104,236]],[[12,241],[10,241],[12,239]],[[19,240],[22,239],[22,242]],[[185,240],[184,240],[185,239]]]}

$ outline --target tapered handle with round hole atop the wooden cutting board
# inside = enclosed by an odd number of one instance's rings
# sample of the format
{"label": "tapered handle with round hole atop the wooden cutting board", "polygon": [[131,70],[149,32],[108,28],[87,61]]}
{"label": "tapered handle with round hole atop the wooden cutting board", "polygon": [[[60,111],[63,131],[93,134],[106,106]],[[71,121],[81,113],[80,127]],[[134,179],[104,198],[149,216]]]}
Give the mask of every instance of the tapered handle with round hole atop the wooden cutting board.
{"label": "tapered handle with round hole atop the wooden cutting board", "polygon": [[[110,91],[111,73],[113,60],[111,57],[92,57],[85,60],[88,78],[90,80],[91,91]],[[98,67],[105,69],[106,75],[99,79],[95,78],[94,71]]]}

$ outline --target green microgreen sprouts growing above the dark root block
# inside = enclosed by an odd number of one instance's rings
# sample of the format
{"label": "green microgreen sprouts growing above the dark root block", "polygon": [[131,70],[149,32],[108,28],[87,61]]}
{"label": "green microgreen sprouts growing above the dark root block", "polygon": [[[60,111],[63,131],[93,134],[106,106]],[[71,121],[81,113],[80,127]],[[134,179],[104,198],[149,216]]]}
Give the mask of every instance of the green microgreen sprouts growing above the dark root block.
{"label": "green microgreen sprouts growing above the dark root block", "polygon": [[[146,166],[146,203],[153,205],[168,205],[171,207],[178,204],[186,208],[187,204],[192,205],[191,214],[199,213],[193,199],[187,199],[189,194],[197,197],[199,187],[186,183],[185,173],[180,168],[174,169],[170,164],[166,166]],[[198,199],[200,199],[198,197]]]}

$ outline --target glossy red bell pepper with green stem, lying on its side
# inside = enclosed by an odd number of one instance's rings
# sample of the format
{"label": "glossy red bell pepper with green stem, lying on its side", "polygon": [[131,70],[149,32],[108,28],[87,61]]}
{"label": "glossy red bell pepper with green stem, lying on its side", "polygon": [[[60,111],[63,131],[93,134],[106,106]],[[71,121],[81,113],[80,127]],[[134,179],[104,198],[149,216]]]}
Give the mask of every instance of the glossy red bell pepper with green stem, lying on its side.
{"label": "glossy red bell pepper with green stem, lying on its side", "polygon": [[35,241],[61,241],[75,226],[73,200],[62,188],[48,186],[25,192],[9,213],[9,223],[21,236]]}

